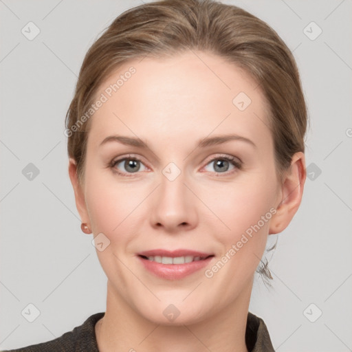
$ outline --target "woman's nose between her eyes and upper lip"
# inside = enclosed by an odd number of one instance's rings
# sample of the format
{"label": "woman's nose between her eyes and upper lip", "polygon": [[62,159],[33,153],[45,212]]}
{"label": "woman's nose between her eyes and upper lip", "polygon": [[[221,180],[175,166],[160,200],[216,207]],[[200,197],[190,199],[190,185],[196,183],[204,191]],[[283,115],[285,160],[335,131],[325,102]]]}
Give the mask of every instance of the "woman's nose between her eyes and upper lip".
{"label": "woman's nose between her eyes and upper lip", "polygon": [[[171,173],[174,171],[171,170]],[[192,192],[183,173],[174,177],[175,175],[168,175],[167,168],[164,170],[160,184],[151,197],[149,208],[151,225],[170,233],[192,230],[198,221],[199,199]]]}

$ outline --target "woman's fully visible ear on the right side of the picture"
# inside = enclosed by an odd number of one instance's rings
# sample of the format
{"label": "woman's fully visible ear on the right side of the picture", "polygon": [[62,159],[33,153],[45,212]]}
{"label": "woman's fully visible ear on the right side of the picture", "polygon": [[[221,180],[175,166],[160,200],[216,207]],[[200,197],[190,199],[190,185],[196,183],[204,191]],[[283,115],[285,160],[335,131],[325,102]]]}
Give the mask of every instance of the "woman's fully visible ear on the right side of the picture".
{"label": "woman's fully visible ear on the right side of the picture", "polygon": [[270,221],[269,234],[282,232],[291,222],[302,200],[305,179],[305,155],[298,152],[292,157],[291,166],[281,184],[281,202]]}

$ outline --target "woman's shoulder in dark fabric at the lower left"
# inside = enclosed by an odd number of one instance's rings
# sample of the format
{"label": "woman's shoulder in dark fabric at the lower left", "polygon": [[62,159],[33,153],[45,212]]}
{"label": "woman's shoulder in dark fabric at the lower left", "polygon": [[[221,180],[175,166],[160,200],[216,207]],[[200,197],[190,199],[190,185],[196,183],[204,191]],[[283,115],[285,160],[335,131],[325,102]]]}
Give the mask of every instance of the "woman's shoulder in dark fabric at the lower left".
{"label": "woman's shoulder in dark fabric at the lower left", "polygon": [[83,325],[75,327],[72,331],[68,331],[54,340],[1,352],[98,352],[95,325],[103,316],[104,312],[93,314],[83,322]]}

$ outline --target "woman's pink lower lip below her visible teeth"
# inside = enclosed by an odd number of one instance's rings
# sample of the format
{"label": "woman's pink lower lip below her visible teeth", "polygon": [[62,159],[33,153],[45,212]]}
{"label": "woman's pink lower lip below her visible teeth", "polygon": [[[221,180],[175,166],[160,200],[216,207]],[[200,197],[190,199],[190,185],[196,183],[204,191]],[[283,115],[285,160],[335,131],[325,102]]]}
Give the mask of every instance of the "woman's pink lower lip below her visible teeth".
{"label": "woman's pink lower lip below her visible teeth", "polygon": [[140,259],[146,270],[149,270],[149,272],[159,276],[159,278],[164,278],[166,280],[179,280],[197,272],[203,267],[206,267],[213,258],[214,256],[210,256],[201,261],[192,261],[184,264],[162,264],[138,256],[138,259]]}

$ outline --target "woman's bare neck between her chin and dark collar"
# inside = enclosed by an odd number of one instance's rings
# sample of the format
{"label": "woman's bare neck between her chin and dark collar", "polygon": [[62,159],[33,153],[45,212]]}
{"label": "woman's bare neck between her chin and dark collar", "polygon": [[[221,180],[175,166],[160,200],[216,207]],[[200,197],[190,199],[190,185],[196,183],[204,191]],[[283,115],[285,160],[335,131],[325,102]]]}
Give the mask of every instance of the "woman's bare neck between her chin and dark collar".
{"label": "woman's bare neck between her chin and dark collar", "polygon": [[[248,352],[245,328],[253,281],[230,306],[199,322],[162,325],[135,311],[111,283],[107,284],[107,309],[96,324],[100,352]],[[221,298],[219,298],[221,301]]]}

